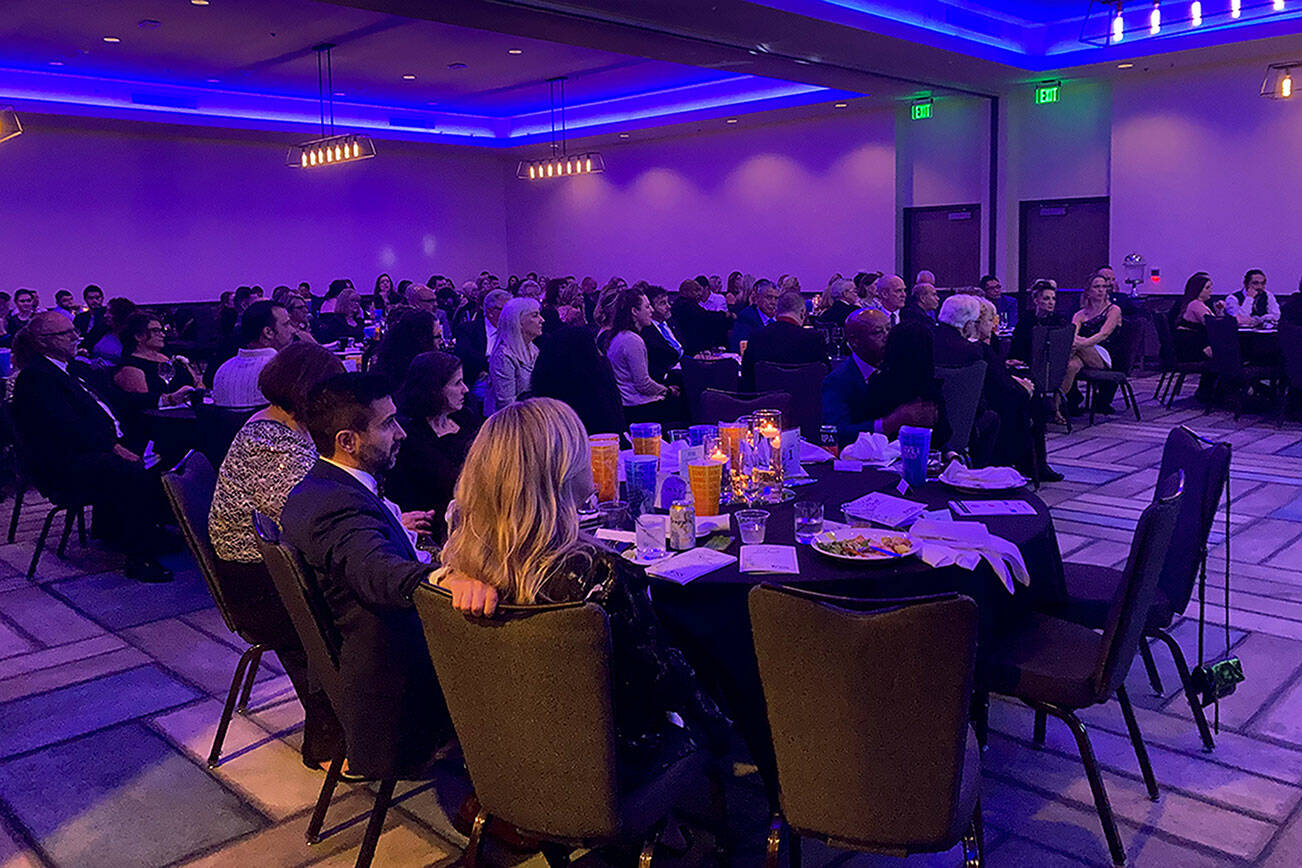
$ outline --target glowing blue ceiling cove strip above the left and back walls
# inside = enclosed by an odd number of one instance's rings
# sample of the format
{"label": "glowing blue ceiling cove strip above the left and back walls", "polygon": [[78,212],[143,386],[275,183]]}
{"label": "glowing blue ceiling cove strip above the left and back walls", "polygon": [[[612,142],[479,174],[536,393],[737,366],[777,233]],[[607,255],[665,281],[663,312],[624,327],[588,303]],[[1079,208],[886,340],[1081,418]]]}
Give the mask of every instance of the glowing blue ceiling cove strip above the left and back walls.
{"label": "glowing blue ceiling cove strip above the left and back walls", "polygon": [[[20,108],[65,115],[294,133],[320,129],[315,96],[253,94],[219,87],[4,68],[0,68],[0,95]],[[734,113],[737,109],[760,111],[859,95],[755,75],[730,75],[568,107],[566,124],[570,129],[594,134],[629,129],[644,125],[646,121],[678,122],[710,117],[712,113]],[[551,133],[546,112],[490,117],[428,107],[375,105],[346,100],[335,102],[335,126],[340,131],[359,131],[380,138],[488,147],[546,141]]]}

